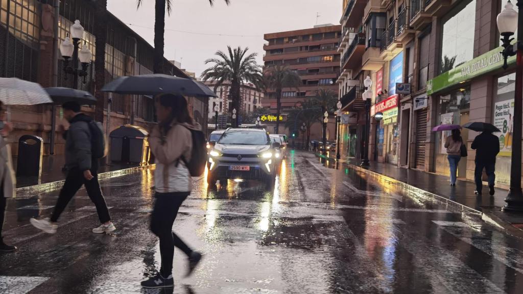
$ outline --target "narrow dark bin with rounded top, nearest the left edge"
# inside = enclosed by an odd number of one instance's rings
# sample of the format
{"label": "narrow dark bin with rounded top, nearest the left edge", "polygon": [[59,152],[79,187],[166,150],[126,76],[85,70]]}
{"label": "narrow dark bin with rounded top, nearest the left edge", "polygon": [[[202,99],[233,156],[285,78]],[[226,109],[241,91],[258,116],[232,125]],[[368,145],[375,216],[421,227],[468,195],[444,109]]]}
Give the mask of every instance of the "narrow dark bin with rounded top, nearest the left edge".
{"label": "narrow dark bin with rounded top, nearest the left edge", "polygon": [[43,140],[38,136],[22,135],[18,139],[17,177],[38,177],[42,171]]}

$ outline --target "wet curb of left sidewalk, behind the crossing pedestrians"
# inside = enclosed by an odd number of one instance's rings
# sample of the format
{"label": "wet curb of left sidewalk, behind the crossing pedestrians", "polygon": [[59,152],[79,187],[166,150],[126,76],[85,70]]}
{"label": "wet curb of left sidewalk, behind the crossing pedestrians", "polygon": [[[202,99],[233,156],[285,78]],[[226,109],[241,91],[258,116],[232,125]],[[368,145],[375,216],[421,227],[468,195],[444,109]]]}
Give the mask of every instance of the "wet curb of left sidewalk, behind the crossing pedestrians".
{"label": "wet curb of left sidewalk, behind the crossing pedestrians", "polygon": [[[98,180],[125,176],[125,175],[132,174],[134,172],[140,171],[142,169],[152,169],[152,168],[154,168],[154,166],[155,166],[154,164],[150,164],[150,165],[146,165],[146,166],[135,166],[135,167],[130,167],[130,168],[119,169],[118,171],[100,173],[100,174],[98,174]],[[32,196],[32,195],[29,195],[29,196],[20,197],[20,196],[18,196],[19,194],[41,194],[41,193],[46,193],[49,191],[59,190],[62,188],[64,183],[65,183],[65,179],[58,180],[56,182],[43,183],[43,184],[38,184],[38,185],[16,188],[17,196],[15,198],[23,199],[23,198],[29,198]]]}

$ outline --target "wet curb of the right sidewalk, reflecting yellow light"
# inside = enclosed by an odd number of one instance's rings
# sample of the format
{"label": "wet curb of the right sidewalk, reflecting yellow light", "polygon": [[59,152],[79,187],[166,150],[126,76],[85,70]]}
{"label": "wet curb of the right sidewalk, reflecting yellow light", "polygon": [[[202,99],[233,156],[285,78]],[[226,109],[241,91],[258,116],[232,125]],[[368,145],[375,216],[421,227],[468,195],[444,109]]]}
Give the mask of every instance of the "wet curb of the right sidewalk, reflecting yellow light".
{"label": "wet curb of the right sidewalk, reflecting yellow light", "polygon": [[[448,209],[452,212],[461,213],[462,216],[464,217],[464,220],[466,220],[466,219],[474,219],[475,221],[482,220],[483,212],[481,212],[479,210],[470,208],[468,206],[464,206],[461,203],[458,203],[456,201],[452,201],[448,198],[445,198],[445,197],[439,196],[437,194],[425,191],[423,189],[414,187],[412,185],[403,183],[395,178],[392,178],[392,177],[389,177],[389,176],[386,176],[386,175],[383,175],[383,174],[380,174],[377,172],[369,171],[369,169],[365,169],[365,168],[359,167],[359,166],[351,164],[351,163],[348,163],[347,165],[350,168],[354,169],[355,171],[363,172],[363,173],[366,173],[366,174],[369,174],[372,176],[376,176],[376,177],[381,177],[381,178],[385,179],[386,181],[391,182],[392,184],[396,184],[407,190],[411,190],[411,191],[415,192],[413,194],[408,194],[408,197],[411,197],[411,198],[418,197],[418,198],[420,198],[420,200],[426,200],[427,197],[430,197],[430,198],[436,200],[437,202],[443,204],[446,207],[446,209]],[[500,226],[498,224],[496,224],[496,227],[500,227]]]}

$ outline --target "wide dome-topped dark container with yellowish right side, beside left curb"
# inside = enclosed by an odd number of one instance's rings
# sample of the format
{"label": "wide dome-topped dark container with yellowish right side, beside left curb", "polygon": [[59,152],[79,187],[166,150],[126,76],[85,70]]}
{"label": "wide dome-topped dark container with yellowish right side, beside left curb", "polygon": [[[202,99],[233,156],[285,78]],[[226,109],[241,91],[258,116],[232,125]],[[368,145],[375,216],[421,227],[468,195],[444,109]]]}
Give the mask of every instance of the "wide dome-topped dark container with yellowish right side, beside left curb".
{"label": "wide dome-topped dark container with yellowish right side, beside left curb", "polygon": [[111,138],[110,157],[112,162],[149,164],[150,148],[144,128],[124,125],[109,134]]}

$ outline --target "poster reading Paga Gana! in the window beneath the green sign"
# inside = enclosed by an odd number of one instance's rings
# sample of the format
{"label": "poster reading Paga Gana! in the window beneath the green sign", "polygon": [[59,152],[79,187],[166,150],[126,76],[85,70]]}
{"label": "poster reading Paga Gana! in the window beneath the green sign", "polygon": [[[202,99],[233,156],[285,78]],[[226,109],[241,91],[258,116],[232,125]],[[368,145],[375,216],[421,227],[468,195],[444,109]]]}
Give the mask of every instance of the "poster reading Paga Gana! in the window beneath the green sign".
{"label": "poster reading Paga Gana! in the window beneath the green sign", "polygon": [[501,132],[494,133],[499,137],[499,156],[512,154],[512,126],[514,121],[514,99],[494,104],[494,126]]}

